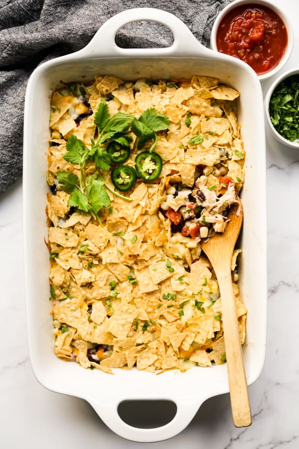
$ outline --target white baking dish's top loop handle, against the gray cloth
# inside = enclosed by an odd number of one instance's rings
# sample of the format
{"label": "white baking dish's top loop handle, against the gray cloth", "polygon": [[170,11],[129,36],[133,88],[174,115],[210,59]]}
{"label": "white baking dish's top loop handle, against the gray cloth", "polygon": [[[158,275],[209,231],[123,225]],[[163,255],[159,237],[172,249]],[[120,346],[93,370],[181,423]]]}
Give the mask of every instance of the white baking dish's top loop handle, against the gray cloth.
{"label": "white baking dish's top loop handle, against the gray cloth", "polygon": [[[115,42],[117,31],[130,22],[149,20],[165,25],[173,34],[173,43],[166,48],[121,48]],[[196,51],[197,50],[197,51]],[[134,8],[122,11],[108,19],[96,32],[91,41],[81,50],[73,53],[75,58],[82,57],[112,57],[112,56],[201,56],[209,54],[212,50],[204,47],[189,30],[189,28],[170,12],[155,8]]]}

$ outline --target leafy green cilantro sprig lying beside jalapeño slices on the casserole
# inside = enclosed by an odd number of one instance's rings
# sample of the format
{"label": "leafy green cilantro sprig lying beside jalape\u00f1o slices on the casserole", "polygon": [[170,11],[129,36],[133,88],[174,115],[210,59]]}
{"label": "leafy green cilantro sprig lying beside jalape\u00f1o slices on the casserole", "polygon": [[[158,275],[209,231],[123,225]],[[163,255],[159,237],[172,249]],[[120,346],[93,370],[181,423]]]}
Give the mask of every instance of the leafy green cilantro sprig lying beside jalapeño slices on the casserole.
{"label": "leafy green cilantro sprig lying beside jalape\u00f1o slices on the casserole", "polygon": [[[132,131],[137,136],[137,148],[141,150],[148,142],[152,142],[146,147],[151,151],[158,139],[156,132],[166,129],[170,120],[164,114],[158,114],[154,108],[144,111],[138,120],[123,112],[111,117],[107,103],[102,100],[95,113],[94,123],[98,129],[98,138],[96,141],[91,140],[91,148],[74,134],[69,136],[66,143],[67,152],[63,158],[79,165],[79,174],[58,171],[56,176],[60,187],[70,194],[68,205],[89,212],[102,225],[98,213],[111,204],[107,190],[125,201],[132,201],[113,190],[103,178],[101,171],[110,170],[112,165],[111,155],[107,152],[108,143],[117,142],[130,148],[133,139],[128,133]],[[88,161],[95,162],[97,173],[86,176],[85,165]]]}

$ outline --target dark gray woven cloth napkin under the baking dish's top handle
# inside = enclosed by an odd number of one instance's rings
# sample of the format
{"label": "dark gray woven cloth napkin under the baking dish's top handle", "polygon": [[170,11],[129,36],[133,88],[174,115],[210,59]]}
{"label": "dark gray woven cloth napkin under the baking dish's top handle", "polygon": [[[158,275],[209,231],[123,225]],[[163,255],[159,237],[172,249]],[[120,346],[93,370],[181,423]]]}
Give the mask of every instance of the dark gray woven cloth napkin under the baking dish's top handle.
{"label": "dark gray woven cloth napkin under the baking dish's top handle", "polygon": [[[40,63],[84,47],[111,16],[134,7],[175,14],[204,45],[219,11],[231,0],[0,0],[0,195],[22,173],[23,106],[27,80]],[[167,28],[128,24],[121,47],[171,44]]]}

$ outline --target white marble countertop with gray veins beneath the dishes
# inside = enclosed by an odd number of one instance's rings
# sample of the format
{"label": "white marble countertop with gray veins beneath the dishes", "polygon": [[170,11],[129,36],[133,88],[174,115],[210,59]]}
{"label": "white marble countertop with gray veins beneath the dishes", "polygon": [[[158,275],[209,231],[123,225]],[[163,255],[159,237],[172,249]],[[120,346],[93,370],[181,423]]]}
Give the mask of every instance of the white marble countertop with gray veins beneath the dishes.
{"label": "white marble countertop with gray veins beneath the dishes", "polygon": [[[274,2],[294,26],[285,71],[299,66],[299,3]],[[264,82],[264,92],[270,82]],[[266,133],[268,343],[264,370],[249,387],[253,424],[235,428],[229,395],[217,396],[181,434],[152,448],[299,448],[299,150],[280,146]],[[19,181],[0,198],[0,448],[141,447],[113,434],[84,400],[50,392],[35,379],[27,348],[21,211]]]}

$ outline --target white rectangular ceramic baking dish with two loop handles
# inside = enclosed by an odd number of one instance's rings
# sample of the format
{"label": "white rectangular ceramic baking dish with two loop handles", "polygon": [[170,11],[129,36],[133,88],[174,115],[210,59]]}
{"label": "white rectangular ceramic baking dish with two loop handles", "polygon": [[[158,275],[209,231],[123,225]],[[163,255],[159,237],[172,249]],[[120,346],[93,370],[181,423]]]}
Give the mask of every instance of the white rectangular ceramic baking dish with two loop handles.
{"label": "white rectangular ceramic baking dish with two loop handles", "polygon": [[[131,21],[151,20],[174,35],[168,48],[124,49],[115,44],[118,29]],[[137,370],[115,370],[109,389],[107,374],[64,363],[54,355],[49,306],[49,254],[45,217],[47,148],[51,89],[60,80],[92,79],[115,74],[125,80],[215,76],[241,93],[239,121],[245,143],[246,180],[242,191],[244,226],[241,245],[240,290],[248,307],[244,363],[248,384],[260,375],[265,358],[267,314],[266,167],[261,86],[242,61],[203,47],[174,15],[158,9],[126,10],[108,20],[82,50],[48,61],[31,75],[25,98],[23,161],[23,232],[27,326],[30,359],[37,380],[46,388],[87,400],[118,435],[133,441],[161,441],[181,432],[207,398],[229,391],[226,365],[196,367],[185,373],[156,376]],[[124,423],[118,405],[125,400],[170,400],[173,420],[155,429]]]}

